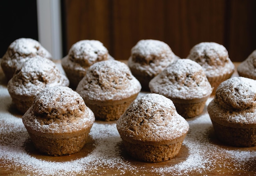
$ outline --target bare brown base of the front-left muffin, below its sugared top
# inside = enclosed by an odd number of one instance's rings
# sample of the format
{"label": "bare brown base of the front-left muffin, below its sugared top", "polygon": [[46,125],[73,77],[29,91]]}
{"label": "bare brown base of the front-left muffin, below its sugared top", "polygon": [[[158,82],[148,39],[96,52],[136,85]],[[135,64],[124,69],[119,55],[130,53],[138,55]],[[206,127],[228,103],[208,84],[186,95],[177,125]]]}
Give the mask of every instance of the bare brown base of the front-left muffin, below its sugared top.
{"label": "bare brown base of the front-left muffin, below its sugared top", "polygon": [[[68,138],[50,138],[45,135],[30,133],[32,143],[41,153],[50,156],[69,155],[80,151],[85,145],[90,128],[85,133]],[[65,134],[63,134],[65,137]]]}

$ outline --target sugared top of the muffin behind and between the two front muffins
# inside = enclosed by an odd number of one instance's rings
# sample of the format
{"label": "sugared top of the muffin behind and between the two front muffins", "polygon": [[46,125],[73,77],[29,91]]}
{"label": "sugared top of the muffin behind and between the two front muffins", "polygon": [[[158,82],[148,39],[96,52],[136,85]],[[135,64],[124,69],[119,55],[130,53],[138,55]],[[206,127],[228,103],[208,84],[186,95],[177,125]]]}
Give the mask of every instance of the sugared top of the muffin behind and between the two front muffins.
{"label": "sugared top of the muffin behind and between the two front muffins", "polygon": [[128,66],[117,60],[97,62],[88,68],[76,91],[84,100],[121,100],[139,93],[141,85]]}

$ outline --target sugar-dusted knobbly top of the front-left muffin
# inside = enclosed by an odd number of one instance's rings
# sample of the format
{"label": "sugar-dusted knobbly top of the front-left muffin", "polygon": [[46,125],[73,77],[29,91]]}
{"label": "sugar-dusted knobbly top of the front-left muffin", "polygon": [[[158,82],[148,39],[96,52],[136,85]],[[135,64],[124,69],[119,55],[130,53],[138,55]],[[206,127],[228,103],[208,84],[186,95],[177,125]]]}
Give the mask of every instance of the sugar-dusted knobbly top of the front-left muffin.
{"label": "sugar-dusted knobbly top of the front-left muffin", "polygon": [[22,116],[25,126],[43,133],[72,133],[94,123],[83,98],[69,87],[49,87],[38,93]]}

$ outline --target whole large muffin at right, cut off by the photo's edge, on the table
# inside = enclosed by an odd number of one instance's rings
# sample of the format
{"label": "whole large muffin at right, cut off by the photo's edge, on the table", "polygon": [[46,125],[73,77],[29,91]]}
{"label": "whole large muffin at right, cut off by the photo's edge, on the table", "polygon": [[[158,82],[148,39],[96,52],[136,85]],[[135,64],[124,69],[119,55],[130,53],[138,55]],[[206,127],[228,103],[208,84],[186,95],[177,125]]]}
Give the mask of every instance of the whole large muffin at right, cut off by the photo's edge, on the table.
{"label": "whole large muffin at right, cut off by the photo's edge, on the table", "polygon": [[234,77],[222,82],[208,105],[217,138],[236,147],[256,145],[256,80]]}

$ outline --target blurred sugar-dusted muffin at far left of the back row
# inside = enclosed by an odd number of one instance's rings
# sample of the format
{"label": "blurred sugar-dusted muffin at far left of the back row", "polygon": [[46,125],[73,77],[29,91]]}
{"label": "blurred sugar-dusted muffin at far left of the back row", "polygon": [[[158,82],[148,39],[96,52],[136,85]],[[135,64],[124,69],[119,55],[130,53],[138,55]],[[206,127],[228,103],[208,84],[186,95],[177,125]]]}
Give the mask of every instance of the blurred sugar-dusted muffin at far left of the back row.
{"label": "blurred sugar-dusted muffin at far left of the back row", "polygon": [[15,70],[20,67],[22,62],[36,56],[52,60],[52,55],[38,41],[31,38],[14,40],[0,60],[7,80],[12,78]]}

